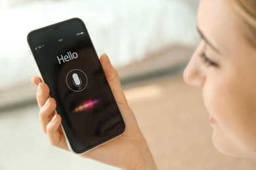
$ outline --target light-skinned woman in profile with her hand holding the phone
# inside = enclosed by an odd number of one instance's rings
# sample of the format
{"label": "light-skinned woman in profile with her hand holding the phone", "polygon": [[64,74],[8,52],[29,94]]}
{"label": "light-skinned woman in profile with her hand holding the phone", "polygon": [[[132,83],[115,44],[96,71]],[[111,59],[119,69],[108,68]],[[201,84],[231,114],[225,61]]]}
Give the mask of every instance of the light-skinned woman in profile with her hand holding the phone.
{"label": "light-skinned woman in profile with her hand holding the phone", "polygon": [[[198,31],[202,36],[184,71],[188,84],[202,87],[203,101],[213,126],[215,147],[232,156],[256,156],[256,2],[254,0],[202,0]],[[117,139],[83,155],[122,169],[156,169],[132,110],[127,105],[118,75],[103,54],[100,63],[110,82],[127,131]],[[56,103],[38,76],[37,102],[43,132],[54,146],[68,150],[53,114]]]}

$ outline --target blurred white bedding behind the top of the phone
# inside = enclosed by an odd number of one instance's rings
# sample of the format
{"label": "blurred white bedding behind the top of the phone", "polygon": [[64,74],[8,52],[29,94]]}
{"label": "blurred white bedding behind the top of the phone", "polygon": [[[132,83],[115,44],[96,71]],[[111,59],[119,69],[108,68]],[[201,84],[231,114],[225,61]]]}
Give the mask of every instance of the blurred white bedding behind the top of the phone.
{"label": "blurred white bedding behind the top of the phone", "polygon": [[196,3],[181,0],[32,1],[0,10],[0,91],[36,75],[26,36],[32,29],[81,18],[98,55],[116,67],[182,44],[194,48]]}

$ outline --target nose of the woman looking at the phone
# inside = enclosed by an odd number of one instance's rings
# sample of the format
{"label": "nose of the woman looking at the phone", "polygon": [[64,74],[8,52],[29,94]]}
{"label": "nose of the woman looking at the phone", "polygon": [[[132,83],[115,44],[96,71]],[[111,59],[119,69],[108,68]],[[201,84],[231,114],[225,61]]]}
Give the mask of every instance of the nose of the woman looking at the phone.
{"label": "nose of the woman looking at the phone", "polygon": [[203,87],[206,77],[203,63],[198,56],[198,52],[194,52],[186,69],[183,73],[184,81],[192,86]]}

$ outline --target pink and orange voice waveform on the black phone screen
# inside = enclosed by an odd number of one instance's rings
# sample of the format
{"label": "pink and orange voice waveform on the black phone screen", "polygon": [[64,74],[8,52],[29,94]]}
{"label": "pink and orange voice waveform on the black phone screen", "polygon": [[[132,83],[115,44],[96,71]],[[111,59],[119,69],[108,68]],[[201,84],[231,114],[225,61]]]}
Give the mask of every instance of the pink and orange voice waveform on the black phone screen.
{"label": "pink and orange voice waveform on the black phone screen", "polygon": [[91,111],[96,104],[100,102],[101,99],[88,99],[81,102],[80,105],[75,107],[75,109],[72,111],[73,113],[76,112],[83,112],[83,111]]}

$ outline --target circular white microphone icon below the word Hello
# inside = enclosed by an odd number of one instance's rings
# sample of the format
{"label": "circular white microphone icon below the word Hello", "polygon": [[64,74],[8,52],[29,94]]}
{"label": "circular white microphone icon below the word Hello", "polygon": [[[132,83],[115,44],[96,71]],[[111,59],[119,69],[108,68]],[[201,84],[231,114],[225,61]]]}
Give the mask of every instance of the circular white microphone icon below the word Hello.
{"label": "circular white microphone icon below the word Hello", "polygon": [[66,84],[68,88],[74,92],[81,92],[87,86],[88,79],[85,73],[79,69],[68,72],[66,76]]}

